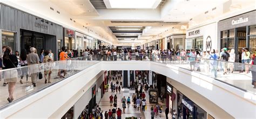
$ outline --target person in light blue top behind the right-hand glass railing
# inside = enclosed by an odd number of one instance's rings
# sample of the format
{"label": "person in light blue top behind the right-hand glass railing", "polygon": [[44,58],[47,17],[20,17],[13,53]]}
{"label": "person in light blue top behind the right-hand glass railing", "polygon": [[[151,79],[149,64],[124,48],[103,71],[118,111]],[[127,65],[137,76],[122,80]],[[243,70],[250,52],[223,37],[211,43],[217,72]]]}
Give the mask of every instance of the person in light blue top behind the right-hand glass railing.
{"label": "person in light blue top behind the right-hand glass railing", "polygon": [[215,54],[215,50],[211,50],[211,54],[208,56],[208,59],[210,59],[210,69],[212,72],[212,76],[214,78],[217,78],[217,69],[218,69],[218,55]]}

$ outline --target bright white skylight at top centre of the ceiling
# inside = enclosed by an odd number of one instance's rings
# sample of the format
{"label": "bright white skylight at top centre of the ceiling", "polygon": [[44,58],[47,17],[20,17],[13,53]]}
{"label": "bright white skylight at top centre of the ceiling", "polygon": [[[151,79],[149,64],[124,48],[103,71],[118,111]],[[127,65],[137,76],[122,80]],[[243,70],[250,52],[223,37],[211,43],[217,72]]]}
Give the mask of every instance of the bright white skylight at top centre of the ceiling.
{"label": "bright white skylight at top centre of the ceiling", "polygon": [[156,9],[161,0],[104,0],[107,9]]}

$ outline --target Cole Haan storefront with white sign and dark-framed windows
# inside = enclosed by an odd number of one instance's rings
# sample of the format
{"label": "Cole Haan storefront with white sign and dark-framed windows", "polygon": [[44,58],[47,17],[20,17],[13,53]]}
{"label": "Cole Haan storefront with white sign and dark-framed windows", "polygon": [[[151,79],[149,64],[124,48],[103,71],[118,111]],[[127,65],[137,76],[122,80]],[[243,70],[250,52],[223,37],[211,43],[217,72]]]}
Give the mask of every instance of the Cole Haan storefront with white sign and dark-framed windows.
{"label": "Cole Haan storefront with white sign and dark-framed windows", "polygon": [[256,11],[244,13],[218,22],[220,48],[234,49],[236,60],[241,62],[241,50],[247,47],[256,52]]}

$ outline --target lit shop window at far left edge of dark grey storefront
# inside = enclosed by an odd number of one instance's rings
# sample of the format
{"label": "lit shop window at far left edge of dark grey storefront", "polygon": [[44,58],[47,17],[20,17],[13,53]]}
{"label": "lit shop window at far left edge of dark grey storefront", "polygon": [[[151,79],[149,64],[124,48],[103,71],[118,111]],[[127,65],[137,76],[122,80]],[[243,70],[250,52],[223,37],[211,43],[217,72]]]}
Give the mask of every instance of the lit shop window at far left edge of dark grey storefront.
{"label": "lit shop window at far left edge of dark grey storefront", "polygon": [[15,51],[14,33],[2,31],[2,46],[10,46]]}

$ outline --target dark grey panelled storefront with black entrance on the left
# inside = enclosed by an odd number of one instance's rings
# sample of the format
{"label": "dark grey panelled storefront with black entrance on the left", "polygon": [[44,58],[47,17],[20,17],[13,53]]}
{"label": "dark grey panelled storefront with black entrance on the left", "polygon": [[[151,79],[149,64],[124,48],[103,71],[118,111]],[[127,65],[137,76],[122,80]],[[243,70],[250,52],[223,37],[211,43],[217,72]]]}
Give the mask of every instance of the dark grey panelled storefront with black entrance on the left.
{"label": "dark grey panelled storefront with black entrance on the left", "polygon": [[39,52],[44,48],[57,54],[57,40],[63,39],[62,26],[3,4],[0,9],[0,46],[10,46],[13,52],[30,47]]}

